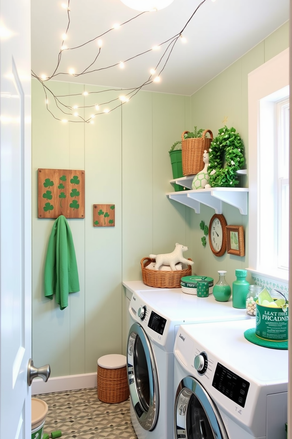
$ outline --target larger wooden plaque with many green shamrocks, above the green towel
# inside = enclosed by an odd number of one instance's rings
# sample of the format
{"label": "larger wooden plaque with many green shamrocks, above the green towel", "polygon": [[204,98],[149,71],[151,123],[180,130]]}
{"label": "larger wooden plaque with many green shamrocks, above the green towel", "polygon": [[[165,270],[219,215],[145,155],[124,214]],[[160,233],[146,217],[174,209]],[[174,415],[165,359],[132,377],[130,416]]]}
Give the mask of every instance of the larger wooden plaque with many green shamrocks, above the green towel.
{"label": "larger wooden plaque with many green shamrocks, above the green towel", "polygon": [[38,169],[38,217],[84,218],[84,171]]}

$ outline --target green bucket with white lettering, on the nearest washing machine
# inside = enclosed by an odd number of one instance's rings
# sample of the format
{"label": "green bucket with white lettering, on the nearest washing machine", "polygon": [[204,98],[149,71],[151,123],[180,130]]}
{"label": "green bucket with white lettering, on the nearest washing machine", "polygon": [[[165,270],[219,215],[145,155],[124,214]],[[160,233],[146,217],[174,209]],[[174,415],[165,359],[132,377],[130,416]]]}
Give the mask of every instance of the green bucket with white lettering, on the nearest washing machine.
{"label": "green bucket with white lettering, on the nearest washing machine", "polygon": [[[276,299],[274,299],[276,300]],[[256,336],[270,342],[286,342],[288,340],[288,306],[263,306],[256,301]]]}

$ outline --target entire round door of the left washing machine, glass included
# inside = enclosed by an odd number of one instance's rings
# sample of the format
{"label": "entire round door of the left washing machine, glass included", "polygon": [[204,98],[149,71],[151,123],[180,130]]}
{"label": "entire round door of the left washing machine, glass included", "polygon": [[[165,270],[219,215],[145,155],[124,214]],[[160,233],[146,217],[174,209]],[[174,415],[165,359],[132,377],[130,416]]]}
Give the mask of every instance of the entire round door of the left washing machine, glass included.
{"label": "entire round door of the left washing machine, glass included", "polygon": [[127,344],[130,398],[139,424],[155,428],[159,410],[158,376],[149,339],[140,324],[130,327]]}

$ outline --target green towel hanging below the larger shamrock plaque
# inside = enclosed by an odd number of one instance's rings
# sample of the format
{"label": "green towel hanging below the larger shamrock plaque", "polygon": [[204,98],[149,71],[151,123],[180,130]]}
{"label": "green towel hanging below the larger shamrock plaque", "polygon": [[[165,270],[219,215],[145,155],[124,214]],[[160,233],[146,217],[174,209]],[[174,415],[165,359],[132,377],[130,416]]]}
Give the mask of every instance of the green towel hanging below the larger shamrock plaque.
{"label": "green towel hanging below the larger shamrock plaque", "polygon": [[80,291],[72,233],[65,216],[53,224],[45,262],[45,297],[53,299],[60,309],[68,306],[69,293]]}

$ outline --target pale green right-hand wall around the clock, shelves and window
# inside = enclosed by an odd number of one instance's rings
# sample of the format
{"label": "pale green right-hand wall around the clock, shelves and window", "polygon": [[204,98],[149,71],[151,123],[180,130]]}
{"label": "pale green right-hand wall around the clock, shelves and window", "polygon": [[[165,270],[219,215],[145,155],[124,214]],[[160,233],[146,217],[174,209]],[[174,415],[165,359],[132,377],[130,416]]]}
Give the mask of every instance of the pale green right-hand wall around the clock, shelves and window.
{"label": "pale green right-hand wall around the clock, shelves and window", "polygon": [[[228,116],[227,126],[234,126],[243,139],[248,173],[248,99],[247,76],[255,68],[285,50],[289,45],[288,22],[268,36],[264,41],[250,50],[234,64],[226,68],[221,74],[212,79],[208,84],[198,90],[191,97],[191,128],[210,128],[216,136],[218,129],[223,126],[223,119]],[[248,175],[242,177],[241,184],[248,187]],[[201,213],[191,213],[193,227],[190,228],[188,242],[192,248],[200,250],[193,270],[198,274],[206,274],[218,280],[218,270],[227,270],[226,279],[229,284],[235,280],[236,268],[248,267],[248,215],[240,215],[238,209],[223,203],[223,215],[227,224],[243,225],[245,233],[246,256],[229,255],[225,253],[217,258],[211,252],[207,243],[206,248],[201,245],[202,231],[199,223],[203,219],[209,224],[214,210],[201,205]]]}

